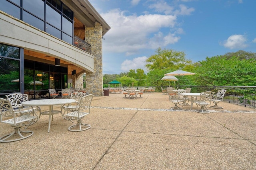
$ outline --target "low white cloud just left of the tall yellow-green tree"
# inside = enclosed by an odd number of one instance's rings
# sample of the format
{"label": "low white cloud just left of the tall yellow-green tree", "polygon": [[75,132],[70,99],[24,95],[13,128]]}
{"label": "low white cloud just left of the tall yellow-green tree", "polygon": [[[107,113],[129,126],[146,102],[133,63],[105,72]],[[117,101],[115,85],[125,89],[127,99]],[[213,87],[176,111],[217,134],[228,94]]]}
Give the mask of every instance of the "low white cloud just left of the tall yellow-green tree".
{"label": "low white cloud just left of the tall yellow-green tree", "polygon": [[129,70],[137,70],[138,68],[142,70],[146,70],[145,68],[145,61],[147,57],[137,57],[132,60],[125,60],[121,64],[121,70],[124,72],[128,72]]}

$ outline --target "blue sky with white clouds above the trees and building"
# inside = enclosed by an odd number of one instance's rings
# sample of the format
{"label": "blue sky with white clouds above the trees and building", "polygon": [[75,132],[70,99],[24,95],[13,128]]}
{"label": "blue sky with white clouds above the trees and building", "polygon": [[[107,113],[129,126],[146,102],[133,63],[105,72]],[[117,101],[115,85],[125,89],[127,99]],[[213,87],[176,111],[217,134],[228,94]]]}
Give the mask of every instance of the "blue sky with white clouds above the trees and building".
{"label": "blue sky with white clouds above the trees and building", "polygon": [[103,74],[141,68],[156,49],[198,62],[228,52],[256,53],[256,0],[89,0],[111,29]]}

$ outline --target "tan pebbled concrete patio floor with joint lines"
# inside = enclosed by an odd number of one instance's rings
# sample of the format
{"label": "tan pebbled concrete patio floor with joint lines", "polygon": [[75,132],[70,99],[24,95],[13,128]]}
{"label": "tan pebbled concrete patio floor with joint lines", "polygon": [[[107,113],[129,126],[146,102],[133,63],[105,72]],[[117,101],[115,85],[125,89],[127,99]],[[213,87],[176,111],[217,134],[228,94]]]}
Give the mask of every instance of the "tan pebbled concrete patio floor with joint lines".
{"label": "tan pebbled concrete patio floor with joint lines", "polygon": [[[84,119],[91,128],[68,131],[70,121],[42,115],[31,137],[0,143],[0,169],[255,170],[256,109],[221,102],[224,109],[174,111],[168,95],[94,97]],[[213,105],[213,104],[212,104]],[[42,111],[48,107],[41,107]],[[54,107],[60,109],[60,106]],[[12,127],[0,123],[0,136]]]}

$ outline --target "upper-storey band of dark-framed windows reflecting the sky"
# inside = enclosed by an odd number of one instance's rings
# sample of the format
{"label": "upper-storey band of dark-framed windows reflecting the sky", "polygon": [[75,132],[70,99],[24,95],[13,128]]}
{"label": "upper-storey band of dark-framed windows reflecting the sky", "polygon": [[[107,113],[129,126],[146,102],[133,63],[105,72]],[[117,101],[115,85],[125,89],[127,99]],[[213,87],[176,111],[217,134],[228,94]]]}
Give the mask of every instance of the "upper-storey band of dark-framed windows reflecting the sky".
{"label": "upper-storey band of dark-framed windows reflecting the sky", "polygon": [[74,12],[60,0],[1,0],[0,10],[73,44]]}

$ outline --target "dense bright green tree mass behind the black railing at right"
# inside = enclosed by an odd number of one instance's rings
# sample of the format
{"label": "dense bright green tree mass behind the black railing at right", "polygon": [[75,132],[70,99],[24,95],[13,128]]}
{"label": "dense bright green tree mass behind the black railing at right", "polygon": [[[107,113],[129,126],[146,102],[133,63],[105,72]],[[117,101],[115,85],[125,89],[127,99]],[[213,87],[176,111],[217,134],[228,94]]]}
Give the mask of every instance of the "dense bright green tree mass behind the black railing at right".
{"label": "dense bright green tree mass behind the black railing at right", "polygon": [[206,57],[194,68],[196,85],[255,86],[256,59],[240,57]]}

